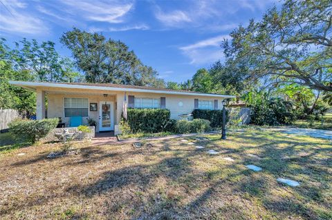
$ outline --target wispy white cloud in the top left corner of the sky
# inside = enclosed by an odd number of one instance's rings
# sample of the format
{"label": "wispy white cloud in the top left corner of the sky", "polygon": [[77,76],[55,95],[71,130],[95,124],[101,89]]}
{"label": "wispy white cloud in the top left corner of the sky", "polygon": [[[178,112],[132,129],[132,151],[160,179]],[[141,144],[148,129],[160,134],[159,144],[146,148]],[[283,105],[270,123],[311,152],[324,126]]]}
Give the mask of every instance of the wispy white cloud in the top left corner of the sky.
{"label": "wispy white cloud in the top left corner of the sky", "polygon": [[26,4],[21,1],[1,1],[0,30],[24,34],[48,32],[48,27],[35,14],[26,12]]}

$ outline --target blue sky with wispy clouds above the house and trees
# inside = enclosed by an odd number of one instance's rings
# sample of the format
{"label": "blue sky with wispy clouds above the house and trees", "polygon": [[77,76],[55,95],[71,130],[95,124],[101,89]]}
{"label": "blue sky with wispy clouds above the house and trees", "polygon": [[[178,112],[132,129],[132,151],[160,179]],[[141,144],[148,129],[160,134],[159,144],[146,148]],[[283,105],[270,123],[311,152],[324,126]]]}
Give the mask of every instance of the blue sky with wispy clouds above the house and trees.
{"label": "blue sky with wispy clouds above the house and trees", "polygon": [[[0,0],[0,37],[59,43],[73,27],[126,43],[165,81],[185,81],[223,59],[221,41],[239,24],[260,19],[278,1]],[[5,7],[6,6],[6,7]]]}

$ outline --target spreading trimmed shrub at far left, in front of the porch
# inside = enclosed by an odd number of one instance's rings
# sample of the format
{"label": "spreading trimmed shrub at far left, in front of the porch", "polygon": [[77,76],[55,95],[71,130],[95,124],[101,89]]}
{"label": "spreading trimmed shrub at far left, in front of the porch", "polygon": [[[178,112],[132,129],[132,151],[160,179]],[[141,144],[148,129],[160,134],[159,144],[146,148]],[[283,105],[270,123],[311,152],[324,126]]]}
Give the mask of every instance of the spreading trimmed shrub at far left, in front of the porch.
{"label": "spreading trimmed shrub at far left, in front of the porch", "polygon": [[8,124],[9,131],[17,137],[23,137],[27,141],[35,143],[42,137],[46,137],[50,130],[57,127],[59,119],[22,120],[17,119]]}

